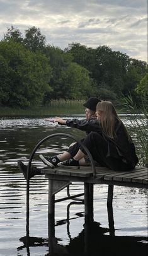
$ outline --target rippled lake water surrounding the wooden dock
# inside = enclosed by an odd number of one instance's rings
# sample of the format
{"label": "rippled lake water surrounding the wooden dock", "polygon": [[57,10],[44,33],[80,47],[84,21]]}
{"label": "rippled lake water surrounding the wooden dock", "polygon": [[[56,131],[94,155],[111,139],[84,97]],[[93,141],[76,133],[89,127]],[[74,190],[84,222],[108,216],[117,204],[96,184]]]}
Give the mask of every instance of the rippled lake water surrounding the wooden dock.
{"label": "rippled lake water surrounding the wooden dock", "polygon": [[[81,118],[81,117],[79,117]],[[128,122],[126,118],[123,119]],[[37,143],[50,134],[64,132],[78,138],[84,132],[51,124],[44,119],[0,119],[0,255],[44,256],[48,253],[48,182],[43,176],[30,180],[30,247],[26,248],[26,181],[17,161],[28,163]],[[42,168],[42,153],[62,153],[72,141],[56,137],[44,143],[33,164]],[[71,195],[83,193],[82,183],[72,183]],[[147,195],[143,189],[115,187],[113,217],[115,236],[110,235],[106,207],[107,185],[94,186],[94,224],[84,243],[84,204],[62,201],[55,204],[55,241],[57,256],[147,255]],[[67,196],[66,189],[56,199]],[[87,254],[87,253],[86,253]]]}

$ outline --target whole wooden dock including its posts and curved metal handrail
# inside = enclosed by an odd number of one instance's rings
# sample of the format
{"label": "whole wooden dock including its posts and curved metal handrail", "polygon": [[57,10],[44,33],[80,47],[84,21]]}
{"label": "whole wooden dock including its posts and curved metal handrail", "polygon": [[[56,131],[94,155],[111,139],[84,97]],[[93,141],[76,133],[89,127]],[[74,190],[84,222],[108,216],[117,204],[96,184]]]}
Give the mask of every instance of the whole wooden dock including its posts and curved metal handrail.
{"label": "whole wooden dock including its posts and curved metal handrail", "polygon": [[[69,169],[69,168],[44,168],[42,173],[48,178],[48,245],[50,255],[54,252],[55,246],[55,202],[64,201],[67,199],[74,199],[84,202],[84,245],[85,252],[88,252],[88,241],[89,241],[89,224],[94,223],[93,220],[93,186],[95,184],[107,184],[108,185],[108,198],[107,198],[107,209],[108,209],[108,224],[110,236],[115,236],[115,228],[113,221],[113,187],[114,185],[123,187],[137,187],[141,189],[147,189],[148,183],[148,173],[147,168],[144,166],[136,166],[134,170],[128,172],[115,172],[103,166],[94,166],[94,161],[89,153],[88,149],[79,142],[71,134],[57,133],[45,137],[40,141],[37,146],[33,149],[30,160],[28,163],[28,170],[30,172],[31,161],[37,149],[42,143],[47,141],[52,137],[69,137],[74,139],[77,143],[81,144],[91,161],[91,166],[80,166],[79,169]],[[28,176],[29,177],[29,176]],[[26,243],[29,244],[29,192],[30,192],[30,180],[27,177],[26,184]],[[70,185],[71,182],[83,182],[84,183],[84,193],[71,195]],[[60,190],[67,187],[67,197],[55,200],[55,194]],[[84,195],[84,199],[78,198]]]}

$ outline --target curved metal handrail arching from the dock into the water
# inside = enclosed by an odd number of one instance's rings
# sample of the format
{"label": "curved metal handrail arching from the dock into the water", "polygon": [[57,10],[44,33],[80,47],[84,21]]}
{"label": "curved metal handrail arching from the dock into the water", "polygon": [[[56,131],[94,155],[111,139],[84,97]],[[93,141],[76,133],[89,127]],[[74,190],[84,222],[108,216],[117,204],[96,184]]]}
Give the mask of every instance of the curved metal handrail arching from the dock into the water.
{"label": "curved metal handrail arching from the dock into the water", "polygon": [[96,174],[96,168],[94,166],[94,160],[91,156],[91,153],[89,152],[88,148],[86,148],[86,146],[83,145],[83,143],[81,143],[81,141],[79,141],[78,139],[76,139],[74,136],[72,136],[71,134],[65,134],[65,133],[56,133],[56,134],[52,134],[52,135],[48,135],[47,137],[45,137],[44,139],[42,139],[42,141],[40,141],[37,146],[35,146],[35,148],[33,149],[31,155],[30,155],[30,160],[28,162],[28,168],[27,168],[27,178],[26,178],[26,236],[29,236],[29,190],[30,190],[30,179],[29,179],[29,173],[30,173],[30,168],[31,168],[31,161],[33,159],[33,156],[35,155],[35,152],[37,151],[37,149],[40,147],[40,145],[42,143],[44,143],[45,141],[47,141],[48,139],[51,139],[52,137],[56,137],[56,136],[63,136],[63,137],[69,137],[71,139],[74,139],[74,141],[76,141],[77,143],[79,143],[82,148],[86,151],[86,153],[89,156],[89,160],[91,161],[91,168],[93,170],[93,175],[95,176]]}

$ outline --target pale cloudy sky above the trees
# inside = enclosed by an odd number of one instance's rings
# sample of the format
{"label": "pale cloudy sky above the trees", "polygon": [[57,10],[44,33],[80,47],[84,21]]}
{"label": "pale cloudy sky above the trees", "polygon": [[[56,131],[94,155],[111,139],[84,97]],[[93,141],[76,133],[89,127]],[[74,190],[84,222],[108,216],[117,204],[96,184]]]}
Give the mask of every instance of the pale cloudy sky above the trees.
{"label": "pale cloudy sky above the trees", "polygon": [[13,26],[40,28],[47,44],[72,42],[147,61],[147,0],[0,0],[0,40]]}

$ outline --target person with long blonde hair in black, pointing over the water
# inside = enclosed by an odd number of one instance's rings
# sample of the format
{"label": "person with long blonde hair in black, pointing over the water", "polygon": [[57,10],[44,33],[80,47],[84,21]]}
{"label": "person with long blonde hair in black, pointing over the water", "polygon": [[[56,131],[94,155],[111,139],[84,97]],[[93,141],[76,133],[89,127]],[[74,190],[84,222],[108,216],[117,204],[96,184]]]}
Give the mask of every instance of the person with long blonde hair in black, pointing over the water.
{"label": "person with long blonde hair in black, pointing over the water", "polygon": [[[113,103],[101,101],[96,106],[97,120],[89,120],[83,127],[74,120],[64,120],[59,117],[54,122],[75,127],[90,133],[83,141],[89,149],[93,159],[100,166],[106,166],[115,171],[126,171],[134,169],[138,163],[134,143],[129,136],[125,125]],[[63,161],[57,165],[60,167],[77,168],[82,158],[86,156],[81,147],[77,154],[70,160]]]}

